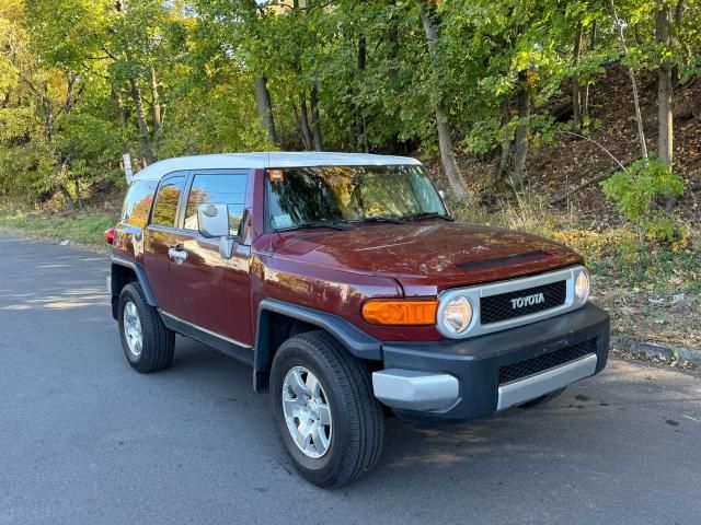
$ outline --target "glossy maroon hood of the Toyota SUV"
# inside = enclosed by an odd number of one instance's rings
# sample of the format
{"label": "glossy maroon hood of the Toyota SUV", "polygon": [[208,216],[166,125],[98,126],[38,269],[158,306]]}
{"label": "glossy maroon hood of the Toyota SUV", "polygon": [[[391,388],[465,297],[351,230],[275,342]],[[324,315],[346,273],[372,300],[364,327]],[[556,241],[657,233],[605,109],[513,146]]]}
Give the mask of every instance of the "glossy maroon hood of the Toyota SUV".
{"label": "glossy maroon hood of the Toyota SUV", "polygon": [[543,237],[443,220],[292,231],[280,234],[272,247],[275,256],[300,262],[393,277],[407,295],[582,262],[572,249]]}

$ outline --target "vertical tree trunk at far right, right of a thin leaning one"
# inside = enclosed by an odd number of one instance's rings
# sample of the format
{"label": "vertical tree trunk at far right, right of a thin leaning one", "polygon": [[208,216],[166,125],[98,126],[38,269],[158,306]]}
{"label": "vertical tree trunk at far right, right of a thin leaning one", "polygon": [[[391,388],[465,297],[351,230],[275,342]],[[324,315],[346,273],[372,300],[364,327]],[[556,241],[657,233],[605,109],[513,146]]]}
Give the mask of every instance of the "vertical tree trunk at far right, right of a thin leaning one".
{"label": "vertical tree trunk at far right, right of a thin leaning one", "polygon": [[[668,48],[671,45],[670,38],[671,10],[662,4],[657,11],[657,23],[655,39],[657,44]],[[671,168],[673,165],[673,82],[671,63],[663,60],[657,71],[657,156],[659,161]]]}

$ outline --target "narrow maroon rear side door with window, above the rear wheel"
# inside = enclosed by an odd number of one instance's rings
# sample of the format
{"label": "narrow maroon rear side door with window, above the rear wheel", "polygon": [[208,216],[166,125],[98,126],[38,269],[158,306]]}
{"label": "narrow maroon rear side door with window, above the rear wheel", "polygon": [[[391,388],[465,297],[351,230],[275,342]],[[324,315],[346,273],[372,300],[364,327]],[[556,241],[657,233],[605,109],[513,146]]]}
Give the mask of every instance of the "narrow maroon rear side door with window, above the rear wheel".
{"label": "narrow maroon rear side door with window, above the rear wheel", "polygon": [[159,307],[165,312],[174,307],[169,252],[179,244],[176,226],[186,182],[186,172],[173,173],[161,179],[149,224],[143,231],[143,266]]}

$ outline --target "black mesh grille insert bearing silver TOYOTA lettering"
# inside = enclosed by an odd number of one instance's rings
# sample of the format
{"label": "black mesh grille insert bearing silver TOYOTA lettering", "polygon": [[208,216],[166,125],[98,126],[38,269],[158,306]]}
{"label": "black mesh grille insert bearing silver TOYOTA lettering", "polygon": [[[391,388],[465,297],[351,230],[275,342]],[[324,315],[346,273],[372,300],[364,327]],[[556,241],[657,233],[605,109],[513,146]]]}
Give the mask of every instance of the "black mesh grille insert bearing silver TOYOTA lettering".
{"label": "black mesh grille insert bearing silver TOYOTA lettering", "polygon": [[[542,302],[527,301],[525,298],[537,296],[542,293]],[[527,288],[516,292],[490,295],[480,300],[480,322],[483,325],[501,320],[522,317],[544,310],[565,304],[567,296],[567,281],[551,282],[541,287]],[[524,300],[522,302],[519,300]],[[515,307],[514,301],[519,301]]]}

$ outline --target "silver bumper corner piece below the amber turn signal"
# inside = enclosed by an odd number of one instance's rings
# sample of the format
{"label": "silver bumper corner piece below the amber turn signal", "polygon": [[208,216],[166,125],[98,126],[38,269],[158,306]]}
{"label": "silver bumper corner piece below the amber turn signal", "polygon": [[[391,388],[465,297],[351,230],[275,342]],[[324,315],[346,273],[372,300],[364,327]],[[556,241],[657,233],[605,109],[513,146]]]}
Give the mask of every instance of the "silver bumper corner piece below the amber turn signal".
{"label": "silver bumper corner piece below the amber turn signal", "polygon": [[409,410],[443,410],[460,399],[457,377],[403,369],[372,372],[372,392],[384,405]]}

